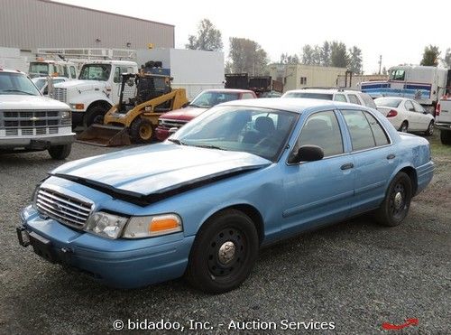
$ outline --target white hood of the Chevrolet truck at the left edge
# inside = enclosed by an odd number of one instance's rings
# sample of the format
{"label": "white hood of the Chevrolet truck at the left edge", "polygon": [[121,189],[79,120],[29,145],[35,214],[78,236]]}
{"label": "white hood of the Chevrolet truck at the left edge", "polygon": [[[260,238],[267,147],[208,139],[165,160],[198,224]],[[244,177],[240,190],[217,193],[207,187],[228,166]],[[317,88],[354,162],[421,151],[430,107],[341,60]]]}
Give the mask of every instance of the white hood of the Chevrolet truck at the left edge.
{"label": "white hood of the Chevrolet truck at the left edge", "polygon": [[54,100],[52,98],[42,96],[23,96],[23,95],[0,95],[0,110],[23,110],[23,109],[58,109],[68,110],[69,106]]}

